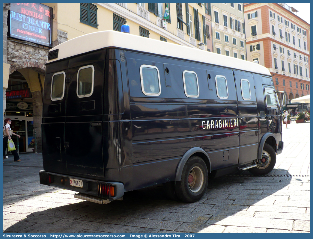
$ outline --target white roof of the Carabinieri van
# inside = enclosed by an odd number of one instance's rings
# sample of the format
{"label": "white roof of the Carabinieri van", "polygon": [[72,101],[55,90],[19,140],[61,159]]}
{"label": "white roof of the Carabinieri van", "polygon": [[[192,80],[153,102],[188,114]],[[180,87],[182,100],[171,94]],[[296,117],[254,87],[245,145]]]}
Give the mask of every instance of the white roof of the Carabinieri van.
{"label": "white roof of the Carabinieri van", "polygon": [[50,50],[59,49],[58,58],[49,60],[48,63],[105,47],[136,50],[271,75],[264,66],[246,60],[117,31],[89,33],[61,43]]}

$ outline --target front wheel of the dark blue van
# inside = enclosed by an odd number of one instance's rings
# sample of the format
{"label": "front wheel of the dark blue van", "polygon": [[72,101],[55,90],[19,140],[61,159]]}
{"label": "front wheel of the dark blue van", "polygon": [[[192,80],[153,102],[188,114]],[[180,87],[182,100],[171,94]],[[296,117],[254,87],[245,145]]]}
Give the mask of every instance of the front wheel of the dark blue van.
{"label": "front wheel of the dark blue van", "polygon": [[264,144],[262,158],[257,161],[258,166],[248,169],[254,175],[268,174],[276,163],[275,150],[269,144]]}

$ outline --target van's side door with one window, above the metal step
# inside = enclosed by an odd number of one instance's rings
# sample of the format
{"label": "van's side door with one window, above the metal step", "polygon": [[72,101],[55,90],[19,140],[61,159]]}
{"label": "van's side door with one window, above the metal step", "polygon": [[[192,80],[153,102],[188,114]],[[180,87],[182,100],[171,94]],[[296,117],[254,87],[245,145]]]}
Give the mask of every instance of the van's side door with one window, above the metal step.
{"label": "van's side door with one window, above the metal step", "polygon": [[255,85],[251,73],[234,70],[238,96],[239,164],[257,158],[259,118]]}

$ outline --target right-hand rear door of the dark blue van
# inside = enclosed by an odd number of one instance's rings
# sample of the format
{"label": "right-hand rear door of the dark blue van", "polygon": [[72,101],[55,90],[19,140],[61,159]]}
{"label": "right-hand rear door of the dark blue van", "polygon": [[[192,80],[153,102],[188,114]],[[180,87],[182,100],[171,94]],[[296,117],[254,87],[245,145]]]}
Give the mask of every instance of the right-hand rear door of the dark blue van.
{"label": "right-hand rear door of the dark blue van", "polygon": [[103,177],[105,61],[94,62],[99,56],[92,54],[95,53],[69,60],[64,147],[69,173]]}

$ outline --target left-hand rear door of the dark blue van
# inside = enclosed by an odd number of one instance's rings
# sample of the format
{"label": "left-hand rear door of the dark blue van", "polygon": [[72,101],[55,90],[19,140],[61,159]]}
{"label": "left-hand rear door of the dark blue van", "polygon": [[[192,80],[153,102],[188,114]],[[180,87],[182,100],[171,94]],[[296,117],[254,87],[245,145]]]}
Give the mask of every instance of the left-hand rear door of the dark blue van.
{"label": "left-hand rear door of the dark blue van", "polygon": [[44,170],[66,173],[64,149],[68,60],[48,64],[44,80],[41,125]]}

